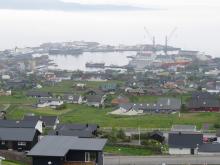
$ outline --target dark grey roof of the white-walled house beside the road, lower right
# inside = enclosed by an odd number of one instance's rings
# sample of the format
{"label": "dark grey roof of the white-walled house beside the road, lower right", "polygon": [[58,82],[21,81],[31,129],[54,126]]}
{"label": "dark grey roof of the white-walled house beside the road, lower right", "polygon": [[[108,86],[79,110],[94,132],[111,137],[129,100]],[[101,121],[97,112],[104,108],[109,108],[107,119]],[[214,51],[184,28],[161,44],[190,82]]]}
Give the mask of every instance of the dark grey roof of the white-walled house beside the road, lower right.
{"label": "dark grey roof of the white-walled house beside the road, lower right", "polygon": [[203,143],[201,133],[190,132],[170,132],[168,145],[171,148],[196,148],[197,144]]}

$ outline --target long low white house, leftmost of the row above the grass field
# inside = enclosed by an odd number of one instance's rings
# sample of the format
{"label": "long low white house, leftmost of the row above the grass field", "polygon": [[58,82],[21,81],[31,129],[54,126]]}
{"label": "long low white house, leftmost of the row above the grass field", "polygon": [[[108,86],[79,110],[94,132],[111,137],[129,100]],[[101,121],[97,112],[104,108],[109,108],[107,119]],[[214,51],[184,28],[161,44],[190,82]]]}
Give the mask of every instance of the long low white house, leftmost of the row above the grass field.
{"label": "long low white house, leftmost of the row above the grass field", "polygon": [[63,104],[64,104],[64,102],[60,99],[41,98],[38,100],[37,108],[45,108],[45,107],[57,108]]}

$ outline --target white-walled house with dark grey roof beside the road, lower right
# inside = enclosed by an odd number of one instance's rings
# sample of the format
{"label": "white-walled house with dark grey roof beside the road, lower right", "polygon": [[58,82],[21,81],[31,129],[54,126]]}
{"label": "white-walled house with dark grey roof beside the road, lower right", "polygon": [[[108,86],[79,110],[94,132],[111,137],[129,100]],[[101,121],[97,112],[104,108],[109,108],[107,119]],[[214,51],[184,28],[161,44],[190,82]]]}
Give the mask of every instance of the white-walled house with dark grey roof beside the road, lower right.
{"label": "white-walled house with dark grey roof beside the road, lower right", "polygon": [[169,154],[194,155],[203,144],[203,134],[196,132],[170,132],[168,134]]}

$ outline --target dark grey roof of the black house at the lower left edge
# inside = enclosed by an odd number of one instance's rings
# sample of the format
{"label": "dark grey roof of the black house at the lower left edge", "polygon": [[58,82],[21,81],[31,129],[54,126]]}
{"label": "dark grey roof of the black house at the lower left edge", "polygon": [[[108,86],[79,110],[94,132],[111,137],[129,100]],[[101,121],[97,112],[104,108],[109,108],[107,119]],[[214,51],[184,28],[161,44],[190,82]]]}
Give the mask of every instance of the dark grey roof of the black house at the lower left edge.
{"label": "dark grey roof of the black house at the lower left edge", "polygon": [[0,128],[0,140],[32,141],[35,133],[33,128]]}

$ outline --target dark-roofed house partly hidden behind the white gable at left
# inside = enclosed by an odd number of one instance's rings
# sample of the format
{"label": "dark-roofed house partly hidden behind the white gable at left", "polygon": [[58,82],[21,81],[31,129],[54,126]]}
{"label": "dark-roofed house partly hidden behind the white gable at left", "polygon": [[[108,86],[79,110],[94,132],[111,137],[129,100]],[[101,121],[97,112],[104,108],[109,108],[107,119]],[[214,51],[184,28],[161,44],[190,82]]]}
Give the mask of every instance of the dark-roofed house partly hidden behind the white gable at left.
{"label": "dark-roofed house partly hidden behind the white gable at left", "polygon": [[57,116],[24,116],[23,121],[41,121],[45,128],[53,129],[60,123]]}

